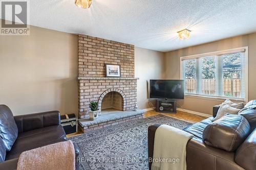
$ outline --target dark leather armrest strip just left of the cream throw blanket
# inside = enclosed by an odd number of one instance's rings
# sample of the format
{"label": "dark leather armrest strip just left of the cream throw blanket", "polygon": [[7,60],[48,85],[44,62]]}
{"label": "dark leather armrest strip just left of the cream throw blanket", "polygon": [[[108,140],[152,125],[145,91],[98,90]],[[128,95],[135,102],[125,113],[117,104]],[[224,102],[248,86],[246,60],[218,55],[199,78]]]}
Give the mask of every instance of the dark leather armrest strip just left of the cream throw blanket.
{"label": "dark leather armrest strip just left of the cream throw blanket", "polygon": [[[155,141],[155,133],[157,128],[161,126],[160,124],[151,125],[147,129],[147,147],[148,147],[148,159],[153,159],[154,152],[154,141]],[[148,162],[148,167],[151,169],[152,162]]]}

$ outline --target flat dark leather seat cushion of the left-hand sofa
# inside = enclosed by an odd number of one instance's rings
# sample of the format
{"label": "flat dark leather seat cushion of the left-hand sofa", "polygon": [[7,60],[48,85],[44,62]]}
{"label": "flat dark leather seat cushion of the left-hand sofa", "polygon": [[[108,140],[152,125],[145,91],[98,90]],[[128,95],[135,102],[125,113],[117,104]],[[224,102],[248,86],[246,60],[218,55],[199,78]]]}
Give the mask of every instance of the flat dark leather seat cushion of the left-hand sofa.
{"label": "flat dark leather seat cushion of the left-hand sofa", "polygon": [[66,140],[66,134],[61,125],[19,133],[12,150],[6,154],[6,160],[17,158],[24,151],[63,140]]}

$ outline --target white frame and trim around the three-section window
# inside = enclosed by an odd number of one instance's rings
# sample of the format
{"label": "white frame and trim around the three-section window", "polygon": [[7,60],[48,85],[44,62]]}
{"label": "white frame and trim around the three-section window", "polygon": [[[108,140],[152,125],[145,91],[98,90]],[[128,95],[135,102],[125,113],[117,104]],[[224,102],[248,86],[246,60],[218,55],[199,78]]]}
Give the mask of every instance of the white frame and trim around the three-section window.
{"label": "white frame and trim around the three-section window", "polygon": [[184,94],[185,97],[197,98],[197,99],[207,99],[207,100],[214,100],[214,101],[224,101],[225,99],[230,99],[234,102],[247,103],[248,102],[248,46],[232,48],[232,49],[222,50],[222,51],[217,51],[217,52],[209,52],[209,53],[181,57],[180,58],[180,78],[183,79],[183,64],[182,64],[183,60],[195,59],[195,58],[201,58],[201,57],[207,57],[207,56],[214,56],[214,55],[223,55],[223,54],[229,54],[229,53],[239,53],[239,52],[245,53],[245,70],[244,70],[245,100],[233,99],[233,98],[221,98],[221,97],[215,97],[215,96],[205,96],[205,95],[200,95],[200,94],[186,94],[186,93]]}

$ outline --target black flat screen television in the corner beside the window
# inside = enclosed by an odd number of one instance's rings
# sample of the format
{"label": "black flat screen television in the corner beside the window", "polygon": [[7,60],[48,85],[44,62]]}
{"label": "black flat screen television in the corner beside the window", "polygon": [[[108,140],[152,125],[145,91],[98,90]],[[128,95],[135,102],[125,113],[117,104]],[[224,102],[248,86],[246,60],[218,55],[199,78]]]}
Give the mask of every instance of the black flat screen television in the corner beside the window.
{"label": "black flat screen television in the corner beside the window", "polygon": [[184,99],[184,80],[150,80],[150,98]]}

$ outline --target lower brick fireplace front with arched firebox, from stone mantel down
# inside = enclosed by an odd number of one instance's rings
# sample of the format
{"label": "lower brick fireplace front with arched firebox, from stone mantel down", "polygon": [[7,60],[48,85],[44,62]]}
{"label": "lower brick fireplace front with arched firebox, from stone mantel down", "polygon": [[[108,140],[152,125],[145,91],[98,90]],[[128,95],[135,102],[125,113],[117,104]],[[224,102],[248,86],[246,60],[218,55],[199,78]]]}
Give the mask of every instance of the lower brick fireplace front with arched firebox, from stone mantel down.
{"label": "lower brick fireplace front with arched firebox, from stone mantel down", "polygon": [[[101,109],[104,98],[108,99],[114,92],[120,95],[121,109],[119,110],[133,110],[137,103],[136,78],[78,78],[78,82],[79,118],[89,117],[90,102],[98,101]],[[107,109],[106,105],[103,105],[103,109]]]}

